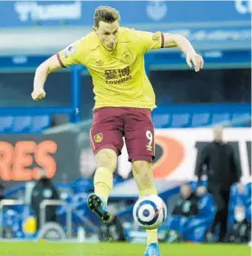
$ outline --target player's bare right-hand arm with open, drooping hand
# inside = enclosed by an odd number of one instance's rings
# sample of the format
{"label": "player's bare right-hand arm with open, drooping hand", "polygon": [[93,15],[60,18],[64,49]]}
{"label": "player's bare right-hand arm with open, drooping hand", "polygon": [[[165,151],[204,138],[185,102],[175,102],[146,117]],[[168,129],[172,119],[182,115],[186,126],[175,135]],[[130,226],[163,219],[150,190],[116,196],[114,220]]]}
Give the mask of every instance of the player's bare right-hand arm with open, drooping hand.
{"label": "player's bare right-hand arm with open, drooping hand", "polygon": [[187,64],[192,67],[194,64],[194,69],[199,72],[203,68],[204,61],[203,58],[196,53],[193,46],[189,43],[189,40],[179,34],[163,34],[164,37],[164,48],[178,47],[187,56]]}

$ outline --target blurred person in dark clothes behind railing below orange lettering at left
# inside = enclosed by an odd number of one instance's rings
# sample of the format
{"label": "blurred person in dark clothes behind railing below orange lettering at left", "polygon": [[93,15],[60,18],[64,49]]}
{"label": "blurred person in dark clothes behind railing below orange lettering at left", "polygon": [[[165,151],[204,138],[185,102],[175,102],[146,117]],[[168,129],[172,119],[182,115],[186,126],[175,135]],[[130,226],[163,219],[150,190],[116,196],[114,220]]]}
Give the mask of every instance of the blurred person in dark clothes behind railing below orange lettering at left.
{"label": "blurred person in dark clothes behind railing below orange lettering at left", "polygon": [[[47,178],[46,172],[40,171],[40,180],[34,185],[32,192],[31,207],[34,211],[37,221],[37,229],[40,228],[40,204],[44,200],[59,200],[60,196],[53,185],[53,182]],[[56,218],[57,206],[47,206],[45,213],[45,222],[57,222]]]}

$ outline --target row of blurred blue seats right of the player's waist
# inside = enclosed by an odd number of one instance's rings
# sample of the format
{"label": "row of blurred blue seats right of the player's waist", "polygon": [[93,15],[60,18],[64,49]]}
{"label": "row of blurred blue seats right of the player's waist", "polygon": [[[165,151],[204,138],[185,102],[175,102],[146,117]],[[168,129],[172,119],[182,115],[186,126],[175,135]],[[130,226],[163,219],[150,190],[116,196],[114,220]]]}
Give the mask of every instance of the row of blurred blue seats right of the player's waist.
{"label": "row of blurred blue seats right of the player's waist", "polygon": [[250,127],[250,104],[188,104],[160,106],[152,113],[156,128],[195,128],[215,124]]}

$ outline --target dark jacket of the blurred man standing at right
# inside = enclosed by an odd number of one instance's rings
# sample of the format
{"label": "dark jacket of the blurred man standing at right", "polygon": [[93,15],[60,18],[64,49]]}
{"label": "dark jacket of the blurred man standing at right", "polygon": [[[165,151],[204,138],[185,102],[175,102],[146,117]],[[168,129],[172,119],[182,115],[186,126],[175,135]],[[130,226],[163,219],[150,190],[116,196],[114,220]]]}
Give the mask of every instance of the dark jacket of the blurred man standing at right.
{"label": "dark jacket of the blurred man standing at right", "polygon": [[199,182],[206,168],[208,186],[220,185],[228,189],[233,183],[238,182],[240,170],[237,166],[233,148],[228,143],[212,142],[206,145],[196,163],[196,173]]}

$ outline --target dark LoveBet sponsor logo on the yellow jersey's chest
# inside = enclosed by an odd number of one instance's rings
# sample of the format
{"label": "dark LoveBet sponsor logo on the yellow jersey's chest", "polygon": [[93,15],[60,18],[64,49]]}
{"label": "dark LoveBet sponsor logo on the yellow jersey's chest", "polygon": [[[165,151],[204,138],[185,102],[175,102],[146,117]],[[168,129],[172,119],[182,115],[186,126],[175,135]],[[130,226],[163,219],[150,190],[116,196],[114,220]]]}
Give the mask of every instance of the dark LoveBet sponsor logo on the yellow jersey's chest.
{"label": "dark LoveBet sponsor logo on the yellow jersey's chest", "polygon": [[122,69],[107,69],[104,75],[106,84],[123,84],[132,79],[130,66]]}

